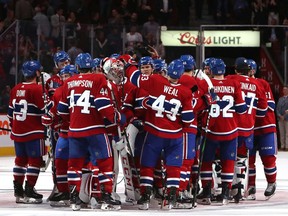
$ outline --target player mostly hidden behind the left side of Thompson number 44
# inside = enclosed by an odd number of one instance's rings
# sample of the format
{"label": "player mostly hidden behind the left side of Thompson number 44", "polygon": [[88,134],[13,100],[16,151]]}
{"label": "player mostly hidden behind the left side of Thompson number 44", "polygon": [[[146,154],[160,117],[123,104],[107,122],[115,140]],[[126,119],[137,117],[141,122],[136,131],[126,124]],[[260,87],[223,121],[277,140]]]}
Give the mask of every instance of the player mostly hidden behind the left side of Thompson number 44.
{"label": "player mostly hidden behind the left side of Thompson number 44", "polygon": [[[61,80],[64,82],[71,76],[78,74],[78,71],[74,65],[66,65],[59,72]],[[55,147],[55,167],[56,167],[56,185],[57,190],[49,197],[49,202],[52,206],[59,205],[59,202],[68,205],[70,199],[68,181],[67,181],[67,170],[68,170],[68,154],[69,154],[69,143],[68,143],[68,129],[69,122],[60,120],[57,114],[57,106],[62,96],[62,86],[58,87],[53,95],[53,107],[49,112],[42,116],[42,124],[46,127],[51,126],[54,130],[59,130],[59,138]]]}

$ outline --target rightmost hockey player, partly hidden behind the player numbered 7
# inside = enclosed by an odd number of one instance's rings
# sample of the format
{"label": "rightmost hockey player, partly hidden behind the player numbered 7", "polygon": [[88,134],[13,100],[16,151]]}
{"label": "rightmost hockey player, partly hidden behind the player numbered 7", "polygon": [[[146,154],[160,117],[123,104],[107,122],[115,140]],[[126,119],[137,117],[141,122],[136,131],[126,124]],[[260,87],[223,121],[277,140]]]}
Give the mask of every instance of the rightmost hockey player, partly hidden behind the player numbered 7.
{"label": "rightmost hockey player, partly hidden behind the player numbered 7", "polygon": [[[250,66],[249,76],[255,78],[257,71],[257,64],[254,60],[248,59]],[[246,198],[249,200],[256,199],[256,152],[259,152],[262,164],[264,166],[264,173],[267,181],[267,188],[264,192],[266,199],[269,199],[276,191],[276,154],[277,154],[277,140],[276,140],[276,120],[275,120],[275,101],[270,85],[264,79],[256,79],[265,90],[265,95],[268,102],[268,110],[265,118],[256,117],[254,127],[254,145],[249,152],[249,181]]]}

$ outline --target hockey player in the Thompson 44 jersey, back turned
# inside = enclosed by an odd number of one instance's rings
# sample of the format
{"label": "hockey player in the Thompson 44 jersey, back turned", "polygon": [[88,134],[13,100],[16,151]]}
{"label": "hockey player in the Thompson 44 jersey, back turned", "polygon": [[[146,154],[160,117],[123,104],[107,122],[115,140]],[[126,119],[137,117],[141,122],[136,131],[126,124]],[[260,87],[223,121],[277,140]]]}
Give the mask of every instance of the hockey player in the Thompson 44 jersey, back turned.
{"label": "hockey player in the Thompson 44 jersey, back turned", "polygon": [[111,197],[113,158],[104,119],[114,123],[121,120],[120,115],[115,112],[111,103],[105,76],[92,73],[90,54],[79,54],[75,65],[80,74],[64,83],[62,99],[58,105],[60,116],[70,122],[68,185],[71,207],[73,210],[81,208],[79,191],[82,167],[87,154],[90,154],[97,161],[99,173],[101,172],[101,209],[119,209],[121,202]]}

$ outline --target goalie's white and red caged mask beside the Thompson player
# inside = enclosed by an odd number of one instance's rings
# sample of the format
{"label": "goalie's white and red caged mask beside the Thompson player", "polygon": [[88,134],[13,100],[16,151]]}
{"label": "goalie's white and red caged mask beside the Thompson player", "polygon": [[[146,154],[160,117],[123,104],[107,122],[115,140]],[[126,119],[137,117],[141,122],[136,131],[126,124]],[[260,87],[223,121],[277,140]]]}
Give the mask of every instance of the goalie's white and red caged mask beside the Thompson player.
{"label": "goalie's white and red caged mask beside the Thompson player", "polygon": [[103,71],[107,79],[120,84],[124,79],[124,64],[122,61],[110,58],[105,61]]}

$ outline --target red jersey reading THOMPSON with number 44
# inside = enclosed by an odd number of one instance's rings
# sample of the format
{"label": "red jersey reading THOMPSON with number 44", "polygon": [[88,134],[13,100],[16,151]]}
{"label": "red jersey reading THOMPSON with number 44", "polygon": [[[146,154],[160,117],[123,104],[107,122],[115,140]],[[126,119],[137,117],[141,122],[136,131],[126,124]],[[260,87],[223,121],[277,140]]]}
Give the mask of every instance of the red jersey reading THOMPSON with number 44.
{"label": "red jersey reading THOMPSON with number 44", "polygon": [[70,121],[68,136],[106,133],[104,119],[113,123],[115,110],[103,74],[80,74],[66,80],[58,113]]}

